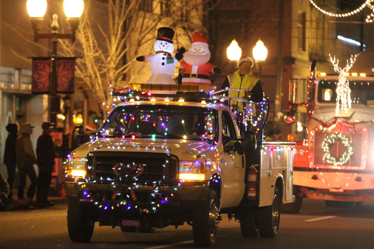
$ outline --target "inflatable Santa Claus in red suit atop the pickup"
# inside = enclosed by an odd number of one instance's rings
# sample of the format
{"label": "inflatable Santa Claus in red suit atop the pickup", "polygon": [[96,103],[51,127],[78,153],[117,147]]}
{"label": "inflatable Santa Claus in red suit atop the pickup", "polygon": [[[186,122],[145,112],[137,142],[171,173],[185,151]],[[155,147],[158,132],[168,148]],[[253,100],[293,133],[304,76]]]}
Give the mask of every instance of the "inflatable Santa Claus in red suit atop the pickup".
{"label": "inflatable Santa Claus in red suit atop the pickup", "polygon": [[208,42],[198,31],[193,34],[192,44],[189,51],[180,61],[186,69],[183,74],[183,85],[211,85],[210,73],[220,73],[219,68],[208,62],[210,52]]}

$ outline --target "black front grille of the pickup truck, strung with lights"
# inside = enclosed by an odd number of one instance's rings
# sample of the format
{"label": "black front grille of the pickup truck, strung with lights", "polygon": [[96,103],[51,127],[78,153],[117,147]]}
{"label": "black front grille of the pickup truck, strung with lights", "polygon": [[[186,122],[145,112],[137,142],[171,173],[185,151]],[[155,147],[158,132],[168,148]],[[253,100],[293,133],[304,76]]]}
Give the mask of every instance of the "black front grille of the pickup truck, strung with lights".
{"label": "black front grille of the pickup truck, strung with lights", "polygon": [[113,167],[117,163],[142,164],[144,172],[138,177],[139,185],[169,185],[177,179],[178,158],[162,153],[94,152],[88,156],[87,177],[90,182],[112,184],[116,177]]}

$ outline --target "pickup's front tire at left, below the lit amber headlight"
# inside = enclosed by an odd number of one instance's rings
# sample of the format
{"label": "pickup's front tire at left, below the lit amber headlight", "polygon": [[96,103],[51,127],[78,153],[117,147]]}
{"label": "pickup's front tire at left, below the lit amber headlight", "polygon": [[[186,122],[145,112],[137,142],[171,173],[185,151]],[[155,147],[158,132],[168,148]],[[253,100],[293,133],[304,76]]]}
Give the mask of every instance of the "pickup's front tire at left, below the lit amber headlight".
{"label": "pickup's front tire at left, below the lit amber headlight", "polygon": [[79,205],[79,200],[67,205],[67,231],[72,242],[89,242],[94,233],[94,221],[87,217]]}

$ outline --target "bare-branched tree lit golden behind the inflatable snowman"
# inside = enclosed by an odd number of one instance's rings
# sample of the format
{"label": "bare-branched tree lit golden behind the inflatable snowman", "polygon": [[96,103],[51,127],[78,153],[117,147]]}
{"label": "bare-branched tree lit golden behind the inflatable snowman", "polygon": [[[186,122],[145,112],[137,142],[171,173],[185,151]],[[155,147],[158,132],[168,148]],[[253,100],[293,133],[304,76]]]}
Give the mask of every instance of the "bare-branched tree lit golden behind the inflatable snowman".
{"label": "bare-branched tree lit golden behind the inflatable snowman", "polygon": [[140,53],[154,53],[157,28],[176,31],[175,49],[188,45],[193,31],[201,27],[193,18],[201,15],[203,4],[204,0],[87,0],[76,44],[61,41],[64,55],[83,55],[77,60],[76,77],[100,102],[110,103],[112,89],[149,74],[147,66],[136,67],[134,62]]}

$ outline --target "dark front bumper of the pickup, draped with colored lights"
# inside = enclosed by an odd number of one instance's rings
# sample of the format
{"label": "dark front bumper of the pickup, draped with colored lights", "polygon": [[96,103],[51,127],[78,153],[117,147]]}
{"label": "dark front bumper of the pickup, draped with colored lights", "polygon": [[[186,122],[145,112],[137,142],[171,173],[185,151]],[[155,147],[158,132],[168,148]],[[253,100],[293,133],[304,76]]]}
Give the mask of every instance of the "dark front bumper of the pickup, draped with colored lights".
{"label": "dark front bumper of the pickup, draped with colored lights", "polygon": [[123,188],[116,194],[117,188],[107,184],[64,182],[64,187],[68,200],[78,198],[81,205],[110,209],[121,205],[126,208],[136,206],[144,212],[155,208],[175,211],[201,207],[207,201],[209,190],[208,182],[180,183],[177,186],[136,186],[132,189],[134,195],[128,188]]}

